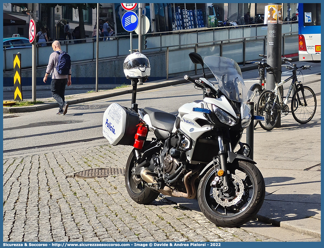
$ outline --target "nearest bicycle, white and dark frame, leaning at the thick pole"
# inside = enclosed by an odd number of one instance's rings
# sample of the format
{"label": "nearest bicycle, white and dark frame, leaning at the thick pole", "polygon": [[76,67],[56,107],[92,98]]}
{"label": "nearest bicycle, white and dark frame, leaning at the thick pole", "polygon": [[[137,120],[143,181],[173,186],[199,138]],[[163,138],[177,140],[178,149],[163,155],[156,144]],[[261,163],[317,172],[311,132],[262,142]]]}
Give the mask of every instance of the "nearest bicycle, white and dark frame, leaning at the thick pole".
{"label": "nearest bicycle, white and dark frame, leaning at the thick pole", "polygon": [[[310,87],[304,86],[302,82],[298,81],[297,77],[301,73],[301,70],[309,69],[310,66],[295,67],[292,65],[287,65],[286,68],[291,69],[293,75],[279,83],[276,80],[274,73],[278,70],[278,68],[270,67],[265,62],[263,62],[262,66],[267,70],[268,73],[273,74],[275,88],[272,91],[263,91],[260,94],[257,104],[257,115],[265,118],[264,122],[260,121],[260,126],[264,130],[270,131],[277,124],[279,113],[288,115],[290,112],[293,114],[293,117],[297,122],[301,124],[309,122],[315,115],[317,106],[316,96],[314,91]],[[289,80],[292,80],[292,82],[286,98],[283,99],[278,89]],[[291,94],[293,97],[290,97]],[[289,107],[287,105],[290,98],[291,111],[289,111]]]}

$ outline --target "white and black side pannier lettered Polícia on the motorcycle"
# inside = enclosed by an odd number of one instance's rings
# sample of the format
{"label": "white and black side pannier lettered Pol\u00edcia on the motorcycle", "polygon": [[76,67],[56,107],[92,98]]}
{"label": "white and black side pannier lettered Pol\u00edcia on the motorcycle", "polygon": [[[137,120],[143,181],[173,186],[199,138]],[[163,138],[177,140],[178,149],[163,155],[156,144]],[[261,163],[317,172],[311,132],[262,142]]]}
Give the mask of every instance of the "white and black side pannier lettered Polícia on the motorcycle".
{"label": "white and black side pannier lettered Pol\u00edcia on the motorcycle", "polygon": [[139,123],[138,115],[130,108],[112,103],[103,114],[102,134],[112,145],[133,145]]}

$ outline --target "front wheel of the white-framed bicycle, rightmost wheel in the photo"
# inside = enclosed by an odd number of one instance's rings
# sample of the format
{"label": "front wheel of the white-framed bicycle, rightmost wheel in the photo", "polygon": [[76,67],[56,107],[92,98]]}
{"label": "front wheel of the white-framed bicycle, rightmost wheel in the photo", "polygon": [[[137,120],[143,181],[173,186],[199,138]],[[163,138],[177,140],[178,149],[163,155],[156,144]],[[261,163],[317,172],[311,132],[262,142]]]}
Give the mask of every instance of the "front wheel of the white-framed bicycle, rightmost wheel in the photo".
{"label": "front wheel of the white-framed bicycle, rightmost wheel in the photo", "polygon": [[300,87],[295,92],[293,100],[291,101],[291,112],[294,119],[301,124],[307,123],[314,117],[316,105],[317,102],[314,91],[308,86]]}

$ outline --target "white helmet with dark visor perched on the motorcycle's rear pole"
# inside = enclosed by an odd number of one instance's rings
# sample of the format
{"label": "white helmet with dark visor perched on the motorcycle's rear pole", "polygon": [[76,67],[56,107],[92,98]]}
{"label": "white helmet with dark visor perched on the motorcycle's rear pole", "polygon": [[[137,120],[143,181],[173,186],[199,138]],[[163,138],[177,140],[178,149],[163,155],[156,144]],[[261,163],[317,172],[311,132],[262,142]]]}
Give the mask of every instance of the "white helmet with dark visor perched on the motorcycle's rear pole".
{"label": "white helmet with dark visor perched on the motorcycle's rear pole", "polygon": [[124,60],[123,68],[126,78],[147,78],[151,72],[150,62],[141,53],[128,55]]}

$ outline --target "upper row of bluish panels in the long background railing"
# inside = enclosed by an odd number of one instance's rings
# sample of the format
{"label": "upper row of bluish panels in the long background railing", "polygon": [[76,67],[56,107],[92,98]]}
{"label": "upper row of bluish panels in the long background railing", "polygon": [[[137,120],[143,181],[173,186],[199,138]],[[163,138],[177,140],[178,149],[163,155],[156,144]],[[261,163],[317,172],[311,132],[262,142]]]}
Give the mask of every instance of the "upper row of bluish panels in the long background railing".
{"label": "upper row of bluish panels in the long background railing", "polygon": [[[251,26],[251,25],[249,25]],[[221,28],[206,28],[196,30],[185,31],[172,31],[161,33],[150,33],[147,35],[147,49],[143,49],[143,53],[148,52],[161,52],[166,51],[167,56],[167,70],[169,67],[169,61],[172,60],[170,51],[176,50],[182,51],[183,49],[191,49],[198,51],[202,47],[217,46],[219,49],[219,55],[223,56],[226,53],[225,47],[231,46],[233,43],[242,44],[243,56],[242,59],[238,59],[238,63],[246,62],[246,44],[250,41],[263,41],[263,50],[260,53],[265,53],[265,42],[267,37],[267,30],[263,29],[260,25],[252,27],[239,26],[239,28],[233,27],[221,27]],[[264,27],[264,26],[263,26]],[[191,32],[190,32],[191,31]],[[194,31],[194,32],[192,32]],[[298,24],[289,23],[283,25],[283,32],[289,31],[283,34],[283,50],[282,54],[290,53],[285,46],[285,43],[291,43],[291,39],[298,35]],[[168,35],[166,35],[168,34]],[[252,35],[249,35],[252,34]],[[260,35],[258,35],[260,34]],[[80,39],[85,40],[86,43],[69,43],[75,40],[64,40],[61,42],[62,50],[68,52],[73,62],[93,62],[96,59],[96,38]],[[112,40],[113,39],[113,40]],[[114,59],[118,57],[127,56],[129,52],[129,35],[122,36],[110,36],[110,41],[99,42],[99,60],[102,59]],[[298,40],[296,39],[295,46],[298,52]],[[138,48],[138,38],[133,37],[133,49]],[[20,52],[22,54],[21,65],[22,68],[31,68],[31,49],[28,48],[10,48],[6,49],[4,46],[4,71],[13,69],[13,54]],[[37,67],[46,66],[48,64],[49,55],[52,53],[51,46],[37,46]],[[233,58],[234,59],[234,58]],[[254,58],[254,59],[257,59]],[[249,56],[249,60],[250,56]]]}

